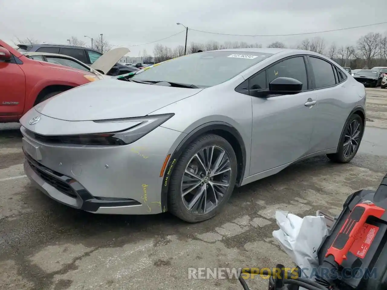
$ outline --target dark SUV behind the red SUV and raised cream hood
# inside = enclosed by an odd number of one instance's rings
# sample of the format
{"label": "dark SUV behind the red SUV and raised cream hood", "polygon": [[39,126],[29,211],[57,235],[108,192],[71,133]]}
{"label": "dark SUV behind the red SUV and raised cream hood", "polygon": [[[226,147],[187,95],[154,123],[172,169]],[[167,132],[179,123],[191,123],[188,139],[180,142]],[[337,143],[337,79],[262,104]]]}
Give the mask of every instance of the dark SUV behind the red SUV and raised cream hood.
{"label": "dark SUV behind the red SUV and raised cream hood", "polygon": [[[77,60],[86,63],[87,65],[92,65],[102,53],[80,45],[73,44],[52,44],[52,43],[28,43],[28,44],[17,44],[18,51],[23,52],[48,52],[48,53],[59,53],[61,55],[68,55],[76,58]],[[127,67],[120,63],[116,63],[114,67],[107,73],[107,75],[123,75],[124,73],[130,73],[138,70],[138,68]]]}

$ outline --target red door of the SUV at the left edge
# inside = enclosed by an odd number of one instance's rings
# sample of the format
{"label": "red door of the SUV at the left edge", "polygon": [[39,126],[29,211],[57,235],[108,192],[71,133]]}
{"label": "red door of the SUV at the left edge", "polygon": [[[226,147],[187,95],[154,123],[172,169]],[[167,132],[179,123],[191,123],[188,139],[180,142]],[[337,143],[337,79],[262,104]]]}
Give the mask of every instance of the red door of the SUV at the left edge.
{"label": "red door of the SUV at the left edge", "polygon": [[10,61],[0,60],[0,116],[23,113],[26,78],[12,55]]}

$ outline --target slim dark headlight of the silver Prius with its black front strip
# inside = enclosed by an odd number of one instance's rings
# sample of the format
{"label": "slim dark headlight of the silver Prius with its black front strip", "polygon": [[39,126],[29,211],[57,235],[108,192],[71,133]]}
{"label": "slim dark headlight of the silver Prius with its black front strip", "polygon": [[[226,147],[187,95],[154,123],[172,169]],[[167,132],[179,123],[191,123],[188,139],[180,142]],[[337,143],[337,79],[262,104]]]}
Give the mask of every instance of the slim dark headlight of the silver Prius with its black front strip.
{"label": "slim dark headlight of the silver Prius with its black front strip", "polygon": [[[133,143],[175,114],[150,115],[139,118],[97,120],[95,123],[129,123],[128,128],[119,132],[108,132],[98,134],[65,135],[65,136],[43,136],[34,134],[36,140],[45,143],[73,144],[73,145],[127,145]],[[132,123],[132,124],[130,124]],[[157,140],[155,140],[157,142]]]}

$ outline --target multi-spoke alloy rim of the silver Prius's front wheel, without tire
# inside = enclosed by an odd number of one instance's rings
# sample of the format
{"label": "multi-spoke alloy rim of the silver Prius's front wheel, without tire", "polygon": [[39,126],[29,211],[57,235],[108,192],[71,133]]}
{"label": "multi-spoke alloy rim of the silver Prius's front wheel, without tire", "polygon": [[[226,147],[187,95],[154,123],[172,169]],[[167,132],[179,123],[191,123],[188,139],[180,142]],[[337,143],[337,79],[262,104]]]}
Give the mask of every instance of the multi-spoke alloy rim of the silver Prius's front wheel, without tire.
{"label": "multi-spoke alloy rim of the silver Prius's front wheel, without tire", "polygon": [[211,212],[230,186],[230,157],[224,148],[213,145],[200,149],[183,173],[181,195],[187,210],[195,214]]}

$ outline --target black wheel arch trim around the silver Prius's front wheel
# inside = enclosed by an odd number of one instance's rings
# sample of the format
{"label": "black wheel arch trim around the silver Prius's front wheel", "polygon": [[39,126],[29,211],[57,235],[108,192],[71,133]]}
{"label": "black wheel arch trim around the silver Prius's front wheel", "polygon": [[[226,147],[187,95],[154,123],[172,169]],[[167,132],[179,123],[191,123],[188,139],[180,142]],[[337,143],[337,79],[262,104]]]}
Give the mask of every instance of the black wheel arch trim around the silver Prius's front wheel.
{"label": "black wheel arch trim around the silver Prius's front wheel", "polygon": [[[205,134],[215,134],[226,139],[230,145],[233,147],[236,159],[238,162],[238,172],[236,176],[236,186],[239,187],[241,185],[243,176],[245,174],[246,167],[246,147],[243,142],[243,138],[232,125],[225,122],[209,122],[205,123],[190,133],[179,143],[176,147],[173,154],[168,161],[166,170],[163,175],[163,186],[161,188],[161,208],[163,208],[163,212],[168,210],[168,190],[170,183],[170,175],[173,172],[173,167],[176,164],[176,161],[180,158],[183,153],[183,150],[189,143],[197,139],[199,136]],[[168,170],[170,169],[170,170]]]}

